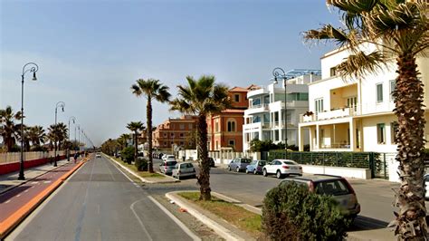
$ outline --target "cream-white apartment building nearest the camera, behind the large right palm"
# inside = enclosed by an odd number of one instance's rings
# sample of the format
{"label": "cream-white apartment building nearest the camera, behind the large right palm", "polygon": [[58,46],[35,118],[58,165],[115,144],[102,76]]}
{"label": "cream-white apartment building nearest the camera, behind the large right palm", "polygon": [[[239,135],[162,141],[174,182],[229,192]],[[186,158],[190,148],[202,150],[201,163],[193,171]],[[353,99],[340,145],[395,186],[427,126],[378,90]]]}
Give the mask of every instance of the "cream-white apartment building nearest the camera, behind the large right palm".
{"label": "cream-white apartment building nearest the camera, behind the large right palm", "polygon": [[[371,51],[374,45],[365,45]],[[396,152],[396,116],[391,92],[396,86],[396,63],[365,78],[344,80],[335,66],[348,57],[347,49],[337,49],[321,57],[322,79],[309,84],[310,112],[301,115],[300,150],[310,132],[310,150]],[[417,58],[424,82],[425,119],[429,120],[429,59]],[[424,137],[429,140],[426,126]],[[429,145],[426,143],[426,148]]]}

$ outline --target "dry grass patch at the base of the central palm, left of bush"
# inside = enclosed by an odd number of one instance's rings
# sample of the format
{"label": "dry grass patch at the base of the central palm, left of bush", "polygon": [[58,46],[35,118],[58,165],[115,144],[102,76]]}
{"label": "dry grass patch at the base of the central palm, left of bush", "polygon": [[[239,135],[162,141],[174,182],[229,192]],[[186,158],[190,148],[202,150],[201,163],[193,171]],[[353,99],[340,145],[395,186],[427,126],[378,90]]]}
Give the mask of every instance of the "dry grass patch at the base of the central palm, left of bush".
{"label": "dry grass patch at the base of the central palm, left of bush", "polygon": [[222,199],[215,198],[214,196],[212,196],[211,201],[200,201],[199,192],[180,192],[178,195],[182,198],[186,198],[199,207],[205,208],[216,216],[224,218],[228,223],[239,227],[256,238],[262,234],[262,217],[243,207],[238,207]]}

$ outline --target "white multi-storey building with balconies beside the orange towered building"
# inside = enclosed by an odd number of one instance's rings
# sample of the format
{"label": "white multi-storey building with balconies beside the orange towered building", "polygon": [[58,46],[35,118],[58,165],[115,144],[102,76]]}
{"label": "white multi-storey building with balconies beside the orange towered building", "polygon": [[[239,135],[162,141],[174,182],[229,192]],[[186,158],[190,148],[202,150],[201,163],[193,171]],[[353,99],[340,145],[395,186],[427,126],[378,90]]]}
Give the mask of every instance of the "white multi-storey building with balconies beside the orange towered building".
{"label": "white multi-storey building with balconies beside the orange towered building", "polygon": [[[285,112],[288,145],[298,146],[298,124],[300,114],[309,110],[309,86],[319,81],[319,70],[292,70],[286,74],[291,79],[286,82],[286,111],[284,109],[284,81],[269,84],[267,87],[247,92],[249,108],[244,111],[243,151],[250,149],[250,141],[285,141]],[[303,135],[304,143],[309,142]]]}

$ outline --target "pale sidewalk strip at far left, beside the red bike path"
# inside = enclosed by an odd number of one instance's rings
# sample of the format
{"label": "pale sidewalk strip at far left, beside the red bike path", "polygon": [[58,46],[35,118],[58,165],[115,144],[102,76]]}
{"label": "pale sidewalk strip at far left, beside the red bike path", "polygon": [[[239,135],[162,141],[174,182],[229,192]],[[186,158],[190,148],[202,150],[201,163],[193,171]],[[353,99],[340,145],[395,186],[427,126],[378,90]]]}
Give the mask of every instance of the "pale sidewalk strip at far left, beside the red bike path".
{"label": "pale sidewalk strip at far left, beside the red bike path", "polygon": [[[67,159],[62,159],[57,161],[57,165],[59,168],[68,163]],[[15,188],[17,186],[23,185],[24,183],[30,181],[33,178],[37,178],[44,173],[51,171],[52,169],[56,169],[53,167],[53,162],[46,163],[38,167],[33,167],[30,169],[24,169],[24,177],[25,180],[18,180],[19,171],[8,173],[5,175],[0,175],[0,194],[5,193],[6,191]]]}

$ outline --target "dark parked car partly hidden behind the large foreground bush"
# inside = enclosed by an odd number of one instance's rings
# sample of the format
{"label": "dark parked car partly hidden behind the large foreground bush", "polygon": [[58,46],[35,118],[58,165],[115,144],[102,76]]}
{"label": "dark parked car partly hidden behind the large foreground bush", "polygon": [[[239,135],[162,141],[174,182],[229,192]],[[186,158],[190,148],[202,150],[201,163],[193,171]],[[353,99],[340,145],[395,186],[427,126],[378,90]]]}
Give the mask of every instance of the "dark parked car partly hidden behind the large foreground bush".
{"label": "dark parked car partly hidden behind the large foreground bush", "polygon": [[332,196],[338,201],[338,205],[348,212],[350,217],[357,217],[360,212],[358,197],[346,178],[315,174],[305,177],[285,178],[280,185],[285,185],[291,181],[308,187],[310,192]]}

